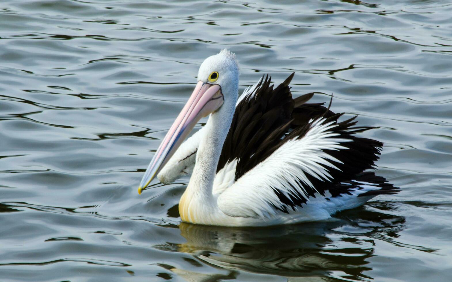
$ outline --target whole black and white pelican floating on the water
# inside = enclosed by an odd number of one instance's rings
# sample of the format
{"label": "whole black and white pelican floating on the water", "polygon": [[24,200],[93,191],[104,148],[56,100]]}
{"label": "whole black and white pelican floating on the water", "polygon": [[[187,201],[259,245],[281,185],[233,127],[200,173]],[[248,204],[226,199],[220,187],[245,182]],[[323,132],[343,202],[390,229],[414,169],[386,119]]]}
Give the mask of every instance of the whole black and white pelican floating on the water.
{"label": "whole black and white pelican floating on the water", "polygon": [[[395,187],[372,169],[379,141],[356,134],[313,93],[292,97],[294,73],[277,87],[264,75],[239,97],[239,66],[227,49],[199,67],[197,84],[141,180],[163,184],[190,175],[181,221],[210,226],[278,226],[322,221]],[[203,117],[205,126],[184,139]]]}

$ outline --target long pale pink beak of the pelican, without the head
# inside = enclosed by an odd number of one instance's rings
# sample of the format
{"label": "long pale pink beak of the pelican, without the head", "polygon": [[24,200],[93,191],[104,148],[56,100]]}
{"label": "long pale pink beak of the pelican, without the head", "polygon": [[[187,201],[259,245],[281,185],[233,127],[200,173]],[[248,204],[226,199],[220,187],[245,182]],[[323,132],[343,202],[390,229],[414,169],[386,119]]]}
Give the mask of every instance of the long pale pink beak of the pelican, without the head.
{"label": "long pale pink beak of the pelican, without the head", "polygon": [[141,180],[138,193],[146,188],[155,175],[157,175],[165,164],[170,160],[180,144],[185,140],[188,133],[192,131],[196,123],[208,114],[216,111],[224,102],[220,85],[212,85],[199,81],[193,90],[190,99],[185,104],[179,116],[174,121],[165,138],[155,152],[154,158],[146,169]]}

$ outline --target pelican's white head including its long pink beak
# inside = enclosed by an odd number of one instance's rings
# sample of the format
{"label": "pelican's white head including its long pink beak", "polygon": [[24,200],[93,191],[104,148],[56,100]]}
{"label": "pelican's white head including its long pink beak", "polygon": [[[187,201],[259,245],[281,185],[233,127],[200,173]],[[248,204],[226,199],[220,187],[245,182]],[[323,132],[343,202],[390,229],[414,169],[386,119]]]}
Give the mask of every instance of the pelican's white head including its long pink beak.
{"label": "pelican's white head including its long pink beak", "polygon": [[233,53],[224,49],[202,62],[198,71],[198,83],[155,152],[141,180],[138,193],[151,183],[201,118],[221,107],[234,110],[238,88],[239,68]]}

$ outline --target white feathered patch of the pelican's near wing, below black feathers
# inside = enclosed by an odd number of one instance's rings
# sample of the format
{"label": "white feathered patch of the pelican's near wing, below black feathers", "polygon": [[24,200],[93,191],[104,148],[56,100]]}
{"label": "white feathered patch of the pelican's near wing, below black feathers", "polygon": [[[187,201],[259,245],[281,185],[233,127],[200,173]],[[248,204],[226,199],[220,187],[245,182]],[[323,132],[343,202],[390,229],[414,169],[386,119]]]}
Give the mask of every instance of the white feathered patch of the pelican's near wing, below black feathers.
{"label": "white feathered patch of the pelican's near wing, below black feathers", "polygon": [[339,133],[331,131],[336,126],[333,122],[323,122],[325,118],[311,122],[305,136],[285,142],[227,188],[217,200],[221,211],[229,216],[272,216],[278,212],[275,207],[283,205],[273,188],[285,195],[295,195],[298,191],[309,201],[302,187],[309,186],[314,190],[315,187],[306,176],[309,174],[322,181],[331,181],[328,169],[338,169],[333,162],[341,162],[324,150],[347,149],[341,143],[350,141],[336,138]]}

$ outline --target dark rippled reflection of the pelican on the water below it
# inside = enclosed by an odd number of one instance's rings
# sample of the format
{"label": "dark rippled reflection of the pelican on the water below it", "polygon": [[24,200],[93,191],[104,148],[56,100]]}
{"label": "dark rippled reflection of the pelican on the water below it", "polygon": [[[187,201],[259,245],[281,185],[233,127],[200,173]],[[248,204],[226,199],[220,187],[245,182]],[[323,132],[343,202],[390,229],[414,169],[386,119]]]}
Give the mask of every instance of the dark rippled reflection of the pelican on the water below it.
{"label": "dark rippled reflection of the pelican on the water below it", "polygon": [[[390,204],[378,205],[381,210],[394,209]],[[192,254],[202,262],[233,272],[245,270],[284,277],[339,276],[368,281],[372,277],[364,272],[372,270],[367,258],[374,253],[375,240],[396,244],[393,240],[404,223],[403,216],[364,208],[341,213],[331,221],[269,228],[201,226],[182,222],[179,228],[187,242],[159,248]],[[419,249],[417,246],[406,247]],[[181,275],[180,269],[167,269]],[[184,271],[182,276],[191,279],[193,275],[198,277],[199,273]]]}

